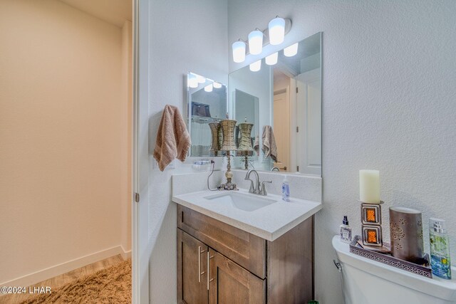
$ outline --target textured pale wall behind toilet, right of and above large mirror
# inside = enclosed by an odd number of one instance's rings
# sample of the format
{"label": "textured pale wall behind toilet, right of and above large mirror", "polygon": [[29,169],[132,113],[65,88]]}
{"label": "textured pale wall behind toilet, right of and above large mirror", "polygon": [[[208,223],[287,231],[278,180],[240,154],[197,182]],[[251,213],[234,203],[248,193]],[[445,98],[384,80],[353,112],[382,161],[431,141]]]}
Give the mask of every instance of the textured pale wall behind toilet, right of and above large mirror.
{"label": "textured pale wall behind toilet, right of and above large mirror", "polygon": [[285,45],[323,31],[320,303],[343,303],[331,237],[344,214],[360,233],[358,169],[380,170],[385,223],[393,205],[423,211],[425,236],[428,217],[447,219],[455,262],[456,1],[229,0],[228,11],[229,43],[276,15],[294,23]]}

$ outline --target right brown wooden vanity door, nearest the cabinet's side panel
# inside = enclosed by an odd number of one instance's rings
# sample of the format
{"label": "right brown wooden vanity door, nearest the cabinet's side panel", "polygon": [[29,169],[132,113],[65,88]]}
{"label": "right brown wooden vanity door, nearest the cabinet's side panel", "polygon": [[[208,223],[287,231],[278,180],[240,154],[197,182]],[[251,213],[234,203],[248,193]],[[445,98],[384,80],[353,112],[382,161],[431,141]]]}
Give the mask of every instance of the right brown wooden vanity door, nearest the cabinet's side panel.
{"label": "right brown wooden vanity door, nearest the cabinet's side panel", "polygon": [[209,248],[209,303],[264,304],[266,281]]}

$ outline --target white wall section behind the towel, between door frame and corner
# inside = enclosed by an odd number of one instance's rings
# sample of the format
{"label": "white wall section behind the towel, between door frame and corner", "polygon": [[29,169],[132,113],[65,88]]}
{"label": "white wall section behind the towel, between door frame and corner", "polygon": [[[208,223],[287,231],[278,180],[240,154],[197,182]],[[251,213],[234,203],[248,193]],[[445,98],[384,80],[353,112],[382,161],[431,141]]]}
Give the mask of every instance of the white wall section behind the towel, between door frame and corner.
{"label": "white wall section behind the towel, between door frame and corner", "polygon": [[[228,80],[227,1],[151,1],[150,152],[162,110],[176,105],[187,115],[187,72],[222,83]],[[179,161],[177,161],[179,162]],[[150,303],[176,303],[176,207],[171,174],[160,172],[150,155]]]}

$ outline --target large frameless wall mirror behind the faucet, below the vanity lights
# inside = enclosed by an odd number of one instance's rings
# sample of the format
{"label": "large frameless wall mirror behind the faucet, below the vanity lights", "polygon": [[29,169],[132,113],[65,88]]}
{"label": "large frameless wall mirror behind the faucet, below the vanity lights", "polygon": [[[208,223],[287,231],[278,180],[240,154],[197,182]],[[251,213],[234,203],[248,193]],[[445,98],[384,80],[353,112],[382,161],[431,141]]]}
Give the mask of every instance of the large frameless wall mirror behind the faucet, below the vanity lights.
{"label": "large frameless wall mirror behind the faucet, below the vanity lights", "polygon": [[[276,60],[266,56],[252,70],[230,73],[228,85],[230,117],[254,124],[248,169],[321,176],[321,33],[284,48]],[[276,155],[268,155],[272,145]],[[233,163],[247,167],[242,157]]]}

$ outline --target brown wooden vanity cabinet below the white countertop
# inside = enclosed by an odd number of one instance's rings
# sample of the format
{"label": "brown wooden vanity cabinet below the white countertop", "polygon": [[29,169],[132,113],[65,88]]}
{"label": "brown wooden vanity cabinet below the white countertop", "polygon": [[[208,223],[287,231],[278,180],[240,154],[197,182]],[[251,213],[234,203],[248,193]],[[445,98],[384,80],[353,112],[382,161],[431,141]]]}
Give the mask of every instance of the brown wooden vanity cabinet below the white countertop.
{"label": "brown wooden vanity cabinet below the white countertop", "polygon": [[271,242],[177,205],[178,303],[307,303],[313,236],[313,217]]}

